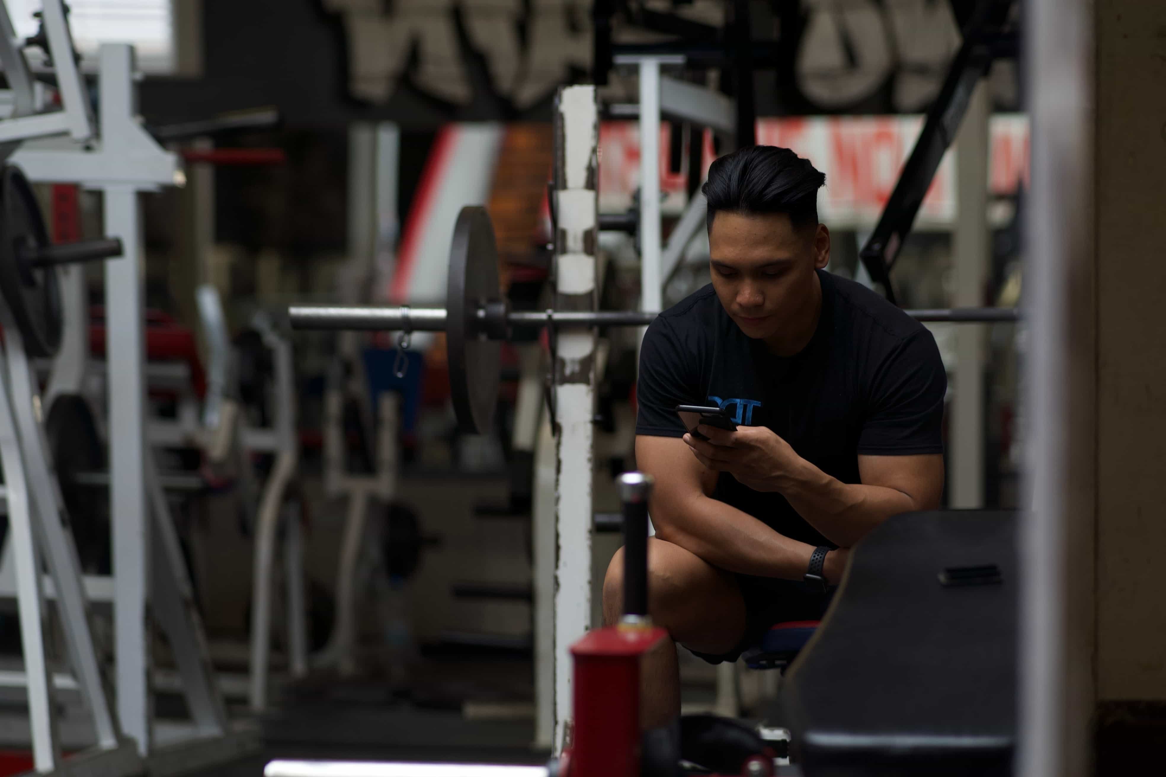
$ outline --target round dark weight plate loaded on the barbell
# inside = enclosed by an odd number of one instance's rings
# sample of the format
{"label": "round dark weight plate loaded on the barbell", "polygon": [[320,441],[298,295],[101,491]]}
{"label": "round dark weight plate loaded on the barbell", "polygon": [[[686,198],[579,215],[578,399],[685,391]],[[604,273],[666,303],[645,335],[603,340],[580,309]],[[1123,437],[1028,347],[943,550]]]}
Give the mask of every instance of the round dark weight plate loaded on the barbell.
{"label": "round dark weight plate loaded on the barbell", "polygon": [[490,431],[498,404],[501,342],[480,332],[480,305],[501,297],[498,248],[486,209],[465,206],[454,227],[445,294],[449,386],[457,428],[471,435]]}

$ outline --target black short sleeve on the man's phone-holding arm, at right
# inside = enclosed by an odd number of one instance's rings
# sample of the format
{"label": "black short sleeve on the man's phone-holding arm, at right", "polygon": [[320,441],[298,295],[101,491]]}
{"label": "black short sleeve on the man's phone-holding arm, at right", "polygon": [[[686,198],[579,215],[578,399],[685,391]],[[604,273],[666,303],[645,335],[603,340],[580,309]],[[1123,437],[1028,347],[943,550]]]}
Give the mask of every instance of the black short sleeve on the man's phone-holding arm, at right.
{"label": "black short sleeve on the man's phone-holding arm, at right", "polygon": [[920,330],[877,367],[858,453],[911,455],[943,452],[947,372],[935,338]]}

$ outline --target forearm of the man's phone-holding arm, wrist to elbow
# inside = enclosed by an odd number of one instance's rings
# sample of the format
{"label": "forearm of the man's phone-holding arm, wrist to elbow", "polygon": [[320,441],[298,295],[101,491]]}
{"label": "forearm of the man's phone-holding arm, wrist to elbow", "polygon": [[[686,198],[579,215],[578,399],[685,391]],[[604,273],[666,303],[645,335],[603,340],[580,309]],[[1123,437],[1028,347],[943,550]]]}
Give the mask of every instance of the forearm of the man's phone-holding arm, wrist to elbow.
{"label": "forearm of the man's phone-holding arm, wrist to elbow", "polygon": [[908,494],[885,486],[844,483],[805,459],[779,490],[799,515],[840,548],[851,548],[892,515],[919,509]]}

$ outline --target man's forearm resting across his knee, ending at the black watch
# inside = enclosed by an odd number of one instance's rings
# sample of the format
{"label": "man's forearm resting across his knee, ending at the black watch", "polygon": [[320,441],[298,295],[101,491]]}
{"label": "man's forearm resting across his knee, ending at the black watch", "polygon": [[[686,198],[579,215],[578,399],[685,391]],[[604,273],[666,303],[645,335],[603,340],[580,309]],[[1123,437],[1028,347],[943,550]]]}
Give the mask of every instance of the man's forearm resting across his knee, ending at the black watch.
{"label": "man's forearm resting across his knee, ending at the black watch", "polygon": [[653,515],[656,537],[729,572],[801,580],[813,545],[778,534],[747,513],[709,496],[687,499],[672,514]]}

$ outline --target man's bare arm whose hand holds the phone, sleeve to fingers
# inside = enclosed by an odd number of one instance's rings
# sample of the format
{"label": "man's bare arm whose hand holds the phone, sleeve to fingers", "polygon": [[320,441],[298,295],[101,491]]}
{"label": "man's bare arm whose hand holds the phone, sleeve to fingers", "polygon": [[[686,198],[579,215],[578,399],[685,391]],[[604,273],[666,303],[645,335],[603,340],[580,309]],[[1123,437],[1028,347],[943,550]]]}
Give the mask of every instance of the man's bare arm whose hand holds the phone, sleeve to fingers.
{"label": "man's bare arm whose hand holds the phone, sleeve to fingers", "polygon": [[756,490],[778,492],[822,536],[851,548],[892,515],[935,509],[943,492],[943,457],[859,455],[861,483],[844,483],[798,455],[764,426],[736,432],[701,426],[709,443],[684,436],[696,460]]}

